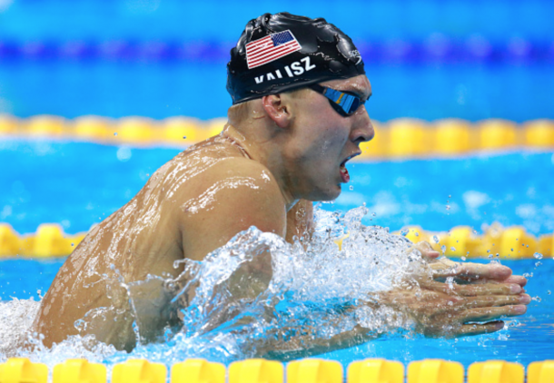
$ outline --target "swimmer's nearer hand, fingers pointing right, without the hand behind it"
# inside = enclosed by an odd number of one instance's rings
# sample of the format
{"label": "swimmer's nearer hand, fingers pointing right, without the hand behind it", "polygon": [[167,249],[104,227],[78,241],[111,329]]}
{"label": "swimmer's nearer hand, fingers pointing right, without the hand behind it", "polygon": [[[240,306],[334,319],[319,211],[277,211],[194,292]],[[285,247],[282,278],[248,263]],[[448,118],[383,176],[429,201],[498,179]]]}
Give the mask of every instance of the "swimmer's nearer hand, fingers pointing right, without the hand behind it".
{"label": "swimmer's nearer hand, fingers pointing right, without the hand behind it", "polygon": [[513,294],[501,284],[494,291],[485,285],[454,286],[430,281],[421,288],[381,293],[380,302],[408,314],[426,336],[459,337],[502,329],[504,322],[496,319],[524,314],[530,301],[529,295]]}

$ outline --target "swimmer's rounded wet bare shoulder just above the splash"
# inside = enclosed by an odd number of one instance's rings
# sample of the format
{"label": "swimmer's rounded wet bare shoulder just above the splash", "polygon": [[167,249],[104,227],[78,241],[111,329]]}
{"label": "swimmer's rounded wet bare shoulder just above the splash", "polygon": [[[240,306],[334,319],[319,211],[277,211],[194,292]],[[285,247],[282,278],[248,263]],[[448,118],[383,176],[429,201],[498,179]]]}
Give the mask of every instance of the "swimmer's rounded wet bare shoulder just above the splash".
{"label": "swimmer's rounded wet bare shoulder just above the splash", "polygon": [[285,201],[272,173],[261,163],[225,158],[194,181],[173,211],[179,216],[187,258],[202,260],[252,226],[284,237]]}

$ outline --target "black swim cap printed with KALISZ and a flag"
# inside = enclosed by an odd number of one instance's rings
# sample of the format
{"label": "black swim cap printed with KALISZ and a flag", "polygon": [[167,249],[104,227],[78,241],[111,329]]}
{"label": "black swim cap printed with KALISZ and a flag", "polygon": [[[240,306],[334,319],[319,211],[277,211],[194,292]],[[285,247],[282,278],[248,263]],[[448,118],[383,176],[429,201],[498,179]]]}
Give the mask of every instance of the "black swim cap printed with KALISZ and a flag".
{"label": "black swim cap printed with KALISZ and a flag", "polygon": [[323,18],[265,14],[244,28],[227,64],[232,104],[365,74],[351,38]]}

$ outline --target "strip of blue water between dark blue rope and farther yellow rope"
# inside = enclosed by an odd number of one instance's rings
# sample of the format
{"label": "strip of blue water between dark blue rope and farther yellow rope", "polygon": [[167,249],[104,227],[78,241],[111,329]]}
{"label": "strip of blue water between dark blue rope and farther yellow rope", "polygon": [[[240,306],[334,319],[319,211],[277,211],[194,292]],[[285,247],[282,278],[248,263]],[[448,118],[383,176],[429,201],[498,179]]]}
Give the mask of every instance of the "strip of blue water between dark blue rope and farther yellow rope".
{"label": "strip of blue water between dark blue rope and farther yellow rope", "polygon": [[[74,62],[0,60],[0,113],[19,117],[85,114],[224,117],[226,59],[216,62]],[[552,64],[366,63],[371,118],[428,121],[554,119]],[[191,94],[195,94],[194,97]]]}

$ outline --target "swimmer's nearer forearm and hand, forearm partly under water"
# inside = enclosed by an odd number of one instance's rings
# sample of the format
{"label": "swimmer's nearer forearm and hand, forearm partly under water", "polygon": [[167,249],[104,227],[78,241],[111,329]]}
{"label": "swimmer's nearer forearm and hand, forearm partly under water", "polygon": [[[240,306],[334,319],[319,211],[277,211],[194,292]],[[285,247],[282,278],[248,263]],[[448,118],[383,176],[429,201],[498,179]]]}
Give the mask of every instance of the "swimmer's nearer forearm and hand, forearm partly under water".
{"label": "swimmer's nearer forearm and hand, forearm partly under water", "polygon": [[[359,303],[372,312],[385,309],[381,315],[386,315],[386,319],[384,322],[381,319],[380,329],[371,330],[357,324],[329,339],[317,338],[314,336],[317,330],[310,327],[277,329],[277,333],[258,340],[263,343],[257,345],[256,354],[260,358],[281,360],[308,358],[360,345],[399,325],[428,337],[486,334],[503,329],[504,322],[500,319],[524,314],[529,301],[529,295],[514,292],[509,286],[498,283],[454,285],[452,289],[446,283],[420,280],[420,288],[382,291],[371,301]],[[354,310],[358,308],[345,306],[337,310],[340,314],[355,317]],[[294,336],[289,335],[291,333]]]}

